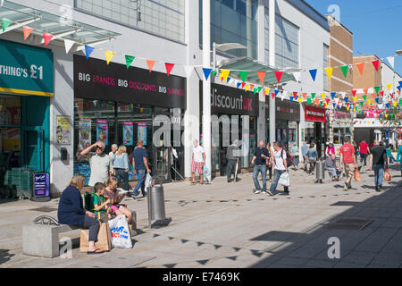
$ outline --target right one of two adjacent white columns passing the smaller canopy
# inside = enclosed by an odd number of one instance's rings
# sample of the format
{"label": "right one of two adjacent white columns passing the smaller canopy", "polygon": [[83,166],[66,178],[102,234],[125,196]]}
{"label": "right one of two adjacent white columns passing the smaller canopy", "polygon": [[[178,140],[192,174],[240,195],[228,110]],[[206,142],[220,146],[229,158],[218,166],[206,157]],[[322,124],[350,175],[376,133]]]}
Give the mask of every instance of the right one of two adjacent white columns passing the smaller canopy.
{"label": "right one of two adjacent white columns passing the smaller canopy", "polygon": [[[272,67],[275,67],[275,4],[276,1],[275,0],[269,0],[270,1],[270,5],[269,5],[269,21],[270,21],[270,65]],[[273,89],[273,88],[272,88]],[[273,90],[272,90],[273,92]],[[275,123],[276,123],[276,119],[275,119],[275,98],[272,98],[270,95],[268,95],[270,97],[270,142],[272,144],[273,141],[275,141]]]}

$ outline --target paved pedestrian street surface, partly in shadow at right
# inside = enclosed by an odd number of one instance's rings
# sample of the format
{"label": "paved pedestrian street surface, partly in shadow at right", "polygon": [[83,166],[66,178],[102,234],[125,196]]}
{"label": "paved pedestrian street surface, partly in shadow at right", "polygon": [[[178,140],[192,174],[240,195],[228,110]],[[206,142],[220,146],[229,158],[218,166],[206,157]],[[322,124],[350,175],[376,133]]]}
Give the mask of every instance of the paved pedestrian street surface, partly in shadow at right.
{"label": "paved pedestrian street surface, partly in shadow at right", "polygon": [[[147,228],[147,200],[127,199],[138,213],[140,234],[132,249],[72,259],[29,257],[21,251],[22,225],[40,214],[29,200],[0,204],[0,267],[401,267],[402,183],[399,169],[381,193],[373,172],[343,191],[341,182],[314,183],[314,176],[291,171],[290,195],[252,193],[251,173],[242,181],[216,178],[211,185],[166,184],[166,214],[172,221]],[[282,187],[279,187],[282,190]],[[56,211],[46,214],[56,216]],[[363,230],[331,229],[340,218],[368,219]],[[71,232],[73,238],[79,232]],[[329,258],[328,240],[339,238],[340,257]],[[78,240],[74,240],[79,242]]]}

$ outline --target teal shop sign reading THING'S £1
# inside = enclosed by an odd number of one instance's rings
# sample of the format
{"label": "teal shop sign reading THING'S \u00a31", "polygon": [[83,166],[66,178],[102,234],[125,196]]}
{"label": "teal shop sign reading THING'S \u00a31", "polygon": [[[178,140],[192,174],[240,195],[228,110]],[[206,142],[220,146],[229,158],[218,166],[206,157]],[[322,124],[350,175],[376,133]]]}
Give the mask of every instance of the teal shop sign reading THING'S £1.
{"label": "teal shop sign reading THING'S \u00a31", "polygon": [[0,92],[53,97],[52,51],[0,40]]}

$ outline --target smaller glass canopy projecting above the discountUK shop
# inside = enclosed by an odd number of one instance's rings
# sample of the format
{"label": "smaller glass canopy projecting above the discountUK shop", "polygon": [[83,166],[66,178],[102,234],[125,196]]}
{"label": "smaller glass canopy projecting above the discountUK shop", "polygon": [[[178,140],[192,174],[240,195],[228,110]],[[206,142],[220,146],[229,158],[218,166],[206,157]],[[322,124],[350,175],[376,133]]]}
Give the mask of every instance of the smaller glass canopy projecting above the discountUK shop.
{"label": "smaller glass canopy projecting above the discountUK shop", "polygon": [[[264,63],[257,62],[254,59],[246,56],[223,60],[218,68],[222,70],[230,70],[230,77],[238,80],[240,80],[239,71],[248,71],[247,82],[252,82],[256,85],[261,85],[261,81],[258,78],[257,73],[252,71],[268,71],[264,78],[264,86],[267,87],[278,85],[275,72],[269,71],[282,71],[280,69],[272,68]],[[283,72],[280,84],[290,80],[296,80],[293,74],[290,72]]]}

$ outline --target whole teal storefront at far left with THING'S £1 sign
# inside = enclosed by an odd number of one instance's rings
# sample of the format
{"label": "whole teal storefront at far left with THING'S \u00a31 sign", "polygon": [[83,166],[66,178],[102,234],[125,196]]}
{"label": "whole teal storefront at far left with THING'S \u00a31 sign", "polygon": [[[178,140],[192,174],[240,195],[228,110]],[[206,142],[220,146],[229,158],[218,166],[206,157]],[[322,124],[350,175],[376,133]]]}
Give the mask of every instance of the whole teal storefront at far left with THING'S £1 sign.
{"label": "whole teal storefront at far left with THING'S \u00a31 sign", "polygon": [[7,40],[0,40],[0,55],[0,184],[11,188],[7,171],[49,172],[54,55]]}

